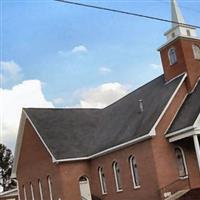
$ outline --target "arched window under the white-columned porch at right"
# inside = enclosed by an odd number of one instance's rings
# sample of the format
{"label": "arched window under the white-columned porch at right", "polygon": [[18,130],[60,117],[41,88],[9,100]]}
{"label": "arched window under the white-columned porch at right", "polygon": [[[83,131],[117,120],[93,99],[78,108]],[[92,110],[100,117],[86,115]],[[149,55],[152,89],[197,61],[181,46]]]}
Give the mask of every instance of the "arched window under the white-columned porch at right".
{"label": "arched window under the white-columned porch at right", "polygon": [[185,156],[180,147],[175,148],[176,160],[178,165],[179,177],[183,178],[188,175]]}

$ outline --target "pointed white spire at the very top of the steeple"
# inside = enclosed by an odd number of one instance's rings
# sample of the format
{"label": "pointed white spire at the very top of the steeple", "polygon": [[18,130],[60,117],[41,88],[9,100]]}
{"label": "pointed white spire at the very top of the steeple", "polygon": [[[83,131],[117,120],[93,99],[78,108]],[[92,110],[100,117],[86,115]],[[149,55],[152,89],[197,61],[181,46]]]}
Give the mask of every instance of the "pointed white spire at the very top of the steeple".
{"label": "pointed white spire at the very top of the steeple", "polygon": [[[171,0],[171,16],[172,21],[185,24],[185,20],[176,0]],[[177,26],[177,24],[172,23],[172,27],[175,26]]]}

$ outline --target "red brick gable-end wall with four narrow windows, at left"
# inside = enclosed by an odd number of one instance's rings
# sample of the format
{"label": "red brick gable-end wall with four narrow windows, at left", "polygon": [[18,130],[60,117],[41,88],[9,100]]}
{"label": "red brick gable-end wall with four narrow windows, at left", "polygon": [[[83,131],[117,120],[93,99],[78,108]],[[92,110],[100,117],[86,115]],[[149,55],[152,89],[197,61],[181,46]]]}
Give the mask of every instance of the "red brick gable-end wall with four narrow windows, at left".
{"label": "red brick gable-end wall with four narrow windows, at left", "polygon": [[39,197],[38,179],[41,180],[44,199],[49,199],[47,176],[51,176],[54,196],[59,198],[60,176],[56,164],[52,163],[51,156],[41,143],[31,124],[26,121],[22,148],[17,169],[17,179],[19,181],[20,197],[24,200],[22,186],[25,185],[27,198],[31,199],[30,182],[36,199]]}

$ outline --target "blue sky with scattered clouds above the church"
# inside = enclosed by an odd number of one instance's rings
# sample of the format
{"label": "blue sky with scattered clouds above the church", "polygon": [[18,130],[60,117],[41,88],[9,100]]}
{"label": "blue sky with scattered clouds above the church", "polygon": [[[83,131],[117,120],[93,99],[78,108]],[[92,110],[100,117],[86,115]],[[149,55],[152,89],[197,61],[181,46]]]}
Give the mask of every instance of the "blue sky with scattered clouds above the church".
{"label": "blue sky with scattered clouds above the church", "polygon": [[[170,19],[170,3],[165,0],[77,2]],[[200,1],[178,2],[186,22],[200,25]],[[7,98],[11,98],[13,91],[29,84],[24,93],[22,89],[18,92],[21,96],[12,96],[19,102],[18,110],[20,106],[81,106],[81,102],[95,106],[90,102],[92,98],[94,101],[107,99],[108,104],[115,99],[113,91],[119,98],[162,74],[157,48],[166,41],[163,33],[170,28],[168,23],[53,0],[1,0],[1,18],[2,94],[6,92]],[[40,90],[41,105],[33,101],[20,104],[22,98],[34,99],[31,84],[35,90]],[[105,98],[100,96],[108,87],[112,90],[111,97],[110,93]],[[9,102],[15,104],[15,99]],[[12,111],[5,109],[4,112],[6,116]],[[4,116],[3,123],[9,120]],[[14,120],[18,122],[19,116]],[[4,138],[6,126],[1,126]],[[13,138],[16,137],[14,132]],[[5,142],[11,148],[14,145],[14,139],[12,142],[5,139]]]}

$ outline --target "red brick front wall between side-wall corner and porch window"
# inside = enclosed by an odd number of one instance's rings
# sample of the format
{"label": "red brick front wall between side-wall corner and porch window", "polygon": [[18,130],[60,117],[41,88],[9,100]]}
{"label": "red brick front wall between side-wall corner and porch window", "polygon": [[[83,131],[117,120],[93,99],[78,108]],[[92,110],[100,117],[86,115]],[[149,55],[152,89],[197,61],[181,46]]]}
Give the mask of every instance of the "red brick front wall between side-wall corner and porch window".
{"label": "red brick front wall between side-wall corner and porch window", "polygon": [[156,127],[157,135],[152,140],[159,188],[172,183],[178,178],[174,145],[168,142],[165,138],[165,133],[177,113],[177,108],[182,104],[186,94],[187,90],[183,85]]}

